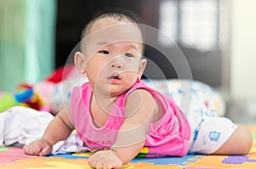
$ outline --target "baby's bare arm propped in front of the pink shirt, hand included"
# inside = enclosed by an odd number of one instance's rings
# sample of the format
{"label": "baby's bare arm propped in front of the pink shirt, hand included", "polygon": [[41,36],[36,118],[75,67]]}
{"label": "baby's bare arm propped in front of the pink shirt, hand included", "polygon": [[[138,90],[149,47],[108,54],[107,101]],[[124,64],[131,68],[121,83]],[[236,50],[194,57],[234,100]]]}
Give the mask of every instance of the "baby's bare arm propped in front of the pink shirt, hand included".
{"label": "baby's bare arm propped in front of the pink shirt, hand included", "polygon": [[125,103],[125,121],[116,143],[110,150],[98,151],[89,159],[96,168],[119,168],[131,161],[143,149],[148,125],[155,113],[155,101],[150,93],[139,89]]}

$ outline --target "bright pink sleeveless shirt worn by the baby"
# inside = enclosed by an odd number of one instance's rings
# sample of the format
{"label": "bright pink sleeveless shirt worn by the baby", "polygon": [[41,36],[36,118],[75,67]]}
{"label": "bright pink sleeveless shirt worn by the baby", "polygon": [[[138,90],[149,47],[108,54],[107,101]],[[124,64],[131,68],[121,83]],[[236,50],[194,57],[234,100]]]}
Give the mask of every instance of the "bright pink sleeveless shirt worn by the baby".
{"label": "bright pink sleeveless shirt worn by the baby", "polygon": [[73,122],[79,137],[90,149],[110,149],[115,143],[119,128],[125,119],[125,100],[136,89],[145,89],[162,106],[164,115],[149,125],[143,148],[143,156],[183,156],[188,153],[190,127],[186,116],[177,107],[171,96],[154,91],[141,80],[116,99],[103,127],[96,127],[90,114],[92,89],[90,83],[74,87],[71,94]]}

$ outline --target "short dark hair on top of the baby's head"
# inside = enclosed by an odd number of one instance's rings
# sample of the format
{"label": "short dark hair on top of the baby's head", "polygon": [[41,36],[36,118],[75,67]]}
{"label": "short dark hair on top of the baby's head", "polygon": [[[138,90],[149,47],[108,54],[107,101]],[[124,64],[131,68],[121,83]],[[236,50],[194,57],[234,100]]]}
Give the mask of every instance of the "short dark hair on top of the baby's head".
{"label": "short dark hair on top of the baby's head", "polygon": [[141,22],[137,14],[132,12],[131,10],[124,9],[124,8],[104,9],[94,14],[90,22],[84,26],[84,30],[82,31],[82,34],[81,34],[81,39],[83,39],[86,35],[90,33],[90,27],[96,22],[96,20],[105,19],[105,18],[106,19],[113,18],[119,21],[128,21],[135,25]]}

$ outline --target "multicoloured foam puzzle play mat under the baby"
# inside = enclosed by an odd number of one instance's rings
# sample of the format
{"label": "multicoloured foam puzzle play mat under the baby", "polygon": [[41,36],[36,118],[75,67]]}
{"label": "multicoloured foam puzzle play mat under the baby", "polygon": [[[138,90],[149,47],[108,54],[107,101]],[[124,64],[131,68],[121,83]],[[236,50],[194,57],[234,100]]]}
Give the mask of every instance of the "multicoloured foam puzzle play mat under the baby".
{"label": "multicoloured foam puzzle play mat under the baby", "polygon": [[[184,157],[135,158],[123,168],[256,168],[256,127],[249,127],[253,133],[253,148],[247,155],[186,155]],[[234,147],[236,149],[236,147]],[[86,169],[90,153],[66,153],[45,157],[25,155],[20,147],[0,147],[0,168],[2,169]],[[143,155],[142,155],[143,156]]]}

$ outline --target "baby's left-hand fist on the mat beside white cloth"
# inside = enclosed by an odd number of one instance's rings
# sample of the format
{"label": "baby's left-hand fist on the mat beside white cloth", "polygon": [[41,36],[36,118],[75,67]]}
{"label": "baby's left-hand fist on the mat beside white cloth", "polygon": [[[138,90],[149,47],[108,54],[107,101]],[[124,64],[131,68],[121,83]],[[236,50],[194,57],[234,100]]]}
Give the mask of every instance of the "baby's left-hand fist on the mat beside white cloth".
{"label": "baby's left-hand fist on the mat beside white cloth", "polygon": [[47,140],[40,139],[24,146],[23,149],[28,155],[44,156],[51,153],[52,145]]}

